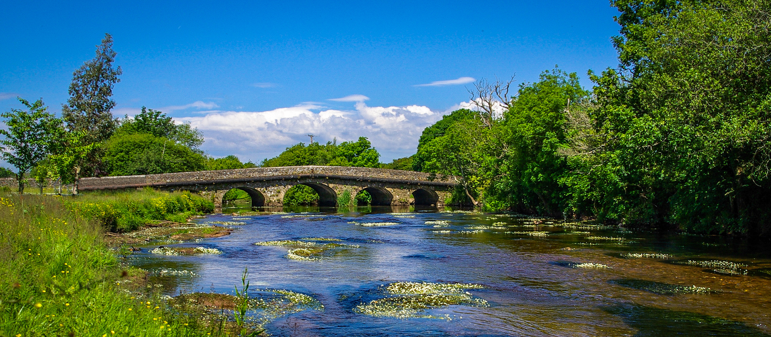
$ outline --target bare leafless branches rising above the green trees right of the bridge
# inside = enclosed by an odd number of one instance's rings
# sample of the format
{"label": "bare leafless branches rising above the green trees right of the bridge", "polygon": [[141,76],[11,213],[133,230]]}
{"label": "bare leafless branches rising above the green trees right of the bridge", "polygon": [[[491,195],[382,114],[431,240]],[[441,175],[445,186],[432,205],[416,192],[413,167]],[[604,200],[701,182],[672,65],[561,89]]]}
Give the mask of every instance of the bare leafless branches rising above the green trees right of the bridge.
{"label": "bare leafless branches rising above the green trees right of the bridge", "polygon": [[471,104],[476,106],[482,123],[487,127],[492,127],[497,116],[496,111],[508,110],[512,96],[509,96],[509,88],[514,82],[514,76],[507,81],[495,78],[494,82],[487,79],[480,79],[474,83],[473,89],[468,89]]}

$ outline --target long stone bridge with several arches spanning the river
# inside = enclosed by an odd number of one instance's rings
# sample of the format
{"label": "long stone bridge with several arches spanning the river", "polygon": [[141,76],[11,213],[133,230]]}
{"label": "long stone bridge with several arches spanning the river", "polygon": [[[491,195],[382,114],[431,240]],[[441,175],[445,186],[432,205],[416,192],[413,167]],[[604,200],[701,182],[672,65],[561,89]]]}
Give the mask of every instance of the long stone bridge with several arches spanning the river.
{"label": "long stone bridge with several arches spanning the river", "polygon": [[[286,191],[298,184],[318,193],[320,206],[352,205],[359,191],[372,195],[372,205],[441,206],[455,189],[454,177],[433,177],[423,172],[369,167],[256,167],[236,170],[147,174],[142,176],[82,178],[79,190],[119,190],[153,187],[190,190],[210,197],[217,207],[233,188],[251,197],[252,207],[282,206]],[[347,197],[346,197],[347,196]],[[348,204],[344,204],[347,202]]]}

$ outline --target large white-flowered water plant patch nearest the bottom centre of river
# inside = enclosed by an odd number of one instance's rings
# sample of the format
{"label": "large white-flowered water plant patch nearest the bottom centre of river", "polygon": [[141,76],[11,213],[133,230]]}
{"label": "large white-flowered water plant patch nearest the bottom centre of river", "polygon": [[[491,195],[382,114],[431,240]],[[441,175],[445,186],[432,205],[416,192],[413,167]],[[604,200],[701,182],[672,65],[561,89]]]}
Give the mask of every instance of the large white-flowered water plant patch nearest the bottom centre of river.
{"label": "large white-flowered water plant patch nearest the bottom centre of river", "polygon": [[466,289],[480,289],[482,285],[463,283],[393,282],[381,286],[389,296],[361,303],[353,312],[376,317],[393,318],[446,318],[429,315],[426,310],[447,305],[487,306],[483,298],[475,298]]}

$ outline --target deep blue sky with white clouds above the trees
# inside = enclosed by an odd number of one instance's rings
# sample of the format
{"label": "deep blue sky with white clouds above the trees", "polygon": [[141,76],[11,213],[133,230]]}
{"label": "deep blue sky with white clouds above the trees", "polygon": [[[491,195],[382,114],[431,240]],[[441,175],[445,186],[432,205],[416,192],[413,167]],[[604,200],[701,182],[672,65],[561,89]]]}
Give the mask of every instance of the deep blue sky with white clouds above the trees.
{"label": "deep blue sky with white clouds above the trees", "polygon": [[591,86],[588,69],[617,63],[616,14],[604,0],[5,2],[0,110],[42,97],[59,113],[109,32],[116,116],[147,106],[189,121],[215,157],[258,161],[314,133],[369,136],[389,161],[467,102],[473,79],[530,82],[558,64]]}

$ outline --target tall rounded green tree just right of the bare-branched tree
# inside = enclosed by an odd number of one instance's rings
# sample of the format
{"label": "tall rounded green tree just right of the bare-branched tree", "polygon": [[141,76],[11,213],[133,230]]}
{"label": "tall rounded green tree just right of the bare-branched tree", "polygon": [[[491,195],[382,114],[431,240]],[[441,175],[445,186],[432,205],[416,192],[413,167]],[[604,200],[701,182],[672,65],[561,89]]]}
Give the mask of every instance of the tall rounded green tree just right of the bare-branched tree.
{"label": "tall rounded green tree just right of the bare-branched tree", "polygon": [[560,179],[569,168],[558,150],[566,145],[565,113],[587,96],[578,76],[560,69],[542,72],[537,83],[520,85],[503,113],[503,151],[490,166],[496,178],[487,190],[488,201],[523,213],[563,215],[567,192]]}

